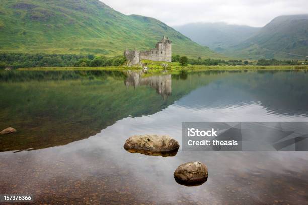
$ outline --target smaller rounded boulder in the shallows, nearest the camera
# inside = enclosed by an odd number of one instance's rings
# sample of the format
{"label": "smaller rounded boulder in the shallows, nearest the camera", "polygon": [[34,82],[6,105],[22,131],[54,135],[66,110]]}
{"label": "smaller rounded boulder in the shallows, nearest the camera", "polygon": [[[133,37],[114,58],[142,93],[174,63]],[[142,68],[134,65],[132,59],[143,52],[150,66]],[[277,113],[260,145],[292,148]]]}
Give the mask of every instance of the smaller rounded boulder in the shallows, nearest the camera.
{"label": "smaller rounded boulder in the shallows, nearest the camera", "polygon": [[207,167],[201,162],[188,162],[174,172],[176,182],[185,186],[198,186],[207,181]]}

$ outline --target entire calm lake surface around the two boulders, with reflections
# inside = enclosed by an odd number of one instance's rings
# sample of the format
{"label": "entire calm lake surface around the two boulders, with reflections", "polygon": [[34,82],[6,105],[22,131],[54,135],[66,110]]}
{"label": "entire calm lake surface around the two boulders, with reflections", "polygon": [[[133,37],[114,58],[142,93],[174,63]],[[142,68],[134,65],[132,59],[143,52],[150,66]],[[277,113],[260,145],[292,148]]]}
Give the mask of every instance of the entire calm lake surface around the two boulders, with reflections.
{"label": "entire calm lake surface around the two boulders, with reflections", "polygon": [[[182,122],[308,122],[304,71],[141,75],[0,72],[0,193],[35,204],[308,204],[307,152],[132,154],[135,134],[181,142]],[[208,181],[173,172],[202,161]],[[23,203],[25,204],[25,203]]]}

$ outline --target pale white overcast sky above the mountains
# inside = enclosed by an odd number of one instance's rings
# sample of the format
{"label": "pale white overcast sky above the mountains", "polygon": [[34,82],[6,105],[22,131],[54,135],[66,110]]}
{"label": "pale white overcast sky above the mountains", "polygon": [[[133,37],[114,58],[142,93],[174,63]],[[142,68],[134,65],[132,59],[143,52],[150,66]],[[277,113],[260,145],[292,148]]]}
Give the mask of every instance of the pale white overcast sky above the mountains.
{"label": "pale white overcast sky above the mountains", "polygon": [[124,14],[159,19],[170,26],[226,22],[264,26],[274,17],[308,13],[308,0],[101,0]]}

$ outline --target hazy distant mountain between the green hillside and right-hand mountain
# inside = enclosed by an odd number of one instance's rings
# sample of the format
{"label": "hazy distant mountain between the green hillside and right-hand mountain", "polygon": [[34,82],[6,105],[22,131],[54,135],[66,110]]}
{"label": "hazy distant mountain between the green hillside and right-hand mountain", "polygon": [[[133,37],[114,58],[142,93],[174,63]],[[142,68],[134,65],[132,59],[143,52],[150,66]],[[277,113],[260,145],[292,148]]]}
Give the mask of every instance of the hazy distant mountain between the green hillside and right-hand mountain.
{"label": "hazy distant mountain between the green hillside and right-hand mountain", "polygon": [[220,23],[190,23],[174,27],[182,34],[217,52],[242,42],[256,34],[260,28]]}

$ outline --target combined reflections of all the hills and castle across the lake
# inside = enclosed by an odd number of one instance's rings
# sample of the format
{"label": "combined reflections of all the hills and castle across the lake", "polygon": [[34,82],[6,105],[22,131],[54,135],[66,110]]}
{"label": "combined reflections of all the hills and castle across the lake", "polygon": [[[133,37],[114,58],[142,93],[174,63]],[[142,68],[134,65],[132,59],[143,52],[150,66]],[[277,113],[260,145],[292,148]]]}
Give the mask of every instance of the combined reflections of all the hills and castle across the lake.
{"label": "combined reflections of all the hills and castle across the lake", "polygon": [[[282,121],[290,116],[304,120],[306,80],[306,72],[294,71],[152,76],[133,71],[3,71],[0,128],[12,126],[19,132],[2,136],[0,151],[65,145],[93,136],[120,119],[157,113],[176,101],[177,106],[199,113],[259,105],[267,110],[255,115],[260,119],[271,121],[279,115]],[[172,116],[181,117],[176,113]]]}

